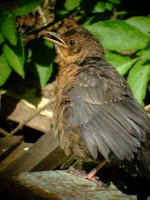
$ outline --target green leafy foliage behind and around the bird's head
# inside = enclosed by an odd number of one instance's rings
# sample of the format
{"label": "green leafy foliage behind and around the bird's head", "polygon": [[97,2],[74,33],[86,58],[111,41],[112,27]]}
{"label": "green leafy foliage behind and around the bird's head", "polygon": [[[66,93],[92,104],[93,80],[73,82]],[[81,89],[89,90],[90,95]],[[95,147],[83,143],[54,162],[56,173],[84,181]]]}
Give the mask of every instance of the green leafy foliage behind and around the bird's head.
{"label": "green leafy foliage behind and around the bird's head", "polygon": [[[0,85],[2,86],[15,71],[25,78],[32,75],[44,87],[53,69],[54,50],[52,44],[35,38],[28,44],[24,39],[31,30],[18,31],[16,20],[24,15],[33,15],[40,6],[45,14],[42,0],[16,0],[15,9],[0,4]],[[123,0],[62,0],[49,1],[54,19],[47,27],[72,19],[87,28],[102,42],[107,60],[127,77],[137,98],[144,104],[150,80],[150,17],[148,12],[137,8],[135,2]],[[134,6],[132,6],[134,4]],[[145,6],[145,1],[143,1]],[[53,9],[49,9],[50,7]],[[148,7],[148,5],[147,5]],[[136,11],[136,15],[135,15]],[[33,15],[36,17],[36,15]],[[45,14],[45,18],[48,20]],[[45,22],[41,25],[44,27]],[[62,25],[65,26],[65,25]],[[33,27],[32,27],[33,28]],[[34,32],[33,28],[33,32]]]}

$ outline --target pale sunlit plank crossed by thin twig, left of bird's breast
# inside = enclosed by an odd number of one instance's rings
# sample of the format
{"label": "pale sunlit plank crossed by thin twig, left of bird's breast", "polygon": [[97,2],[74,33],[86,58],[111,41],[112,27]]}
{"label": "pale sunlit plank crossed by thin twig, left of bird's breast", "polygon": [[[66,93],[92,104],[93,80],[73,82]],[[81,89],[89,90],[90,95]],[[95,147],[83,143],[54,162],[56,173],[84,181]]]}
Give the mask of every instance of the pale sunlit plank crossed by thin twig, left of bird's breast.
{"label": "pale sunlit plank crossed by thin twig, left of bird's breast", "polygon": [[[1,105],[1,115],[18,123],[23,122],[35,113],[35,109],[28,106],[24,101],[6,95],[2,95]],[[41,132],[47,132],[50,126],[50,120],[50,117],[38,114],[26,126]]]}

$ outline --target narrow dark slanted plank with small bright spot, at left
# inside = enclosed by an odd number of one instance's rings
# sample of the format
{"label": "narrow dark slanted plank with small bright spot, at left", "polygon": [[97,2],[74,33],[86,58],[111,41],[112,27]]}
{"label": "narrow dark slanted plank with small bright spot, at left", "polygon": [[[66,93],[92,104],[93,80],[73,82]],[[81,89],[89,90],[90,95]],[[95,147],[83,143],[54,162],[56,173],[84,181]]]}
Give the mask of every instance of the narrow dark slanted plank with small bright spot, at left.
{"label": "narrow dark slanted plank with small bright spot, at left", "polygon": [[32,143],[23,142],[16,149],[14,149],[2,162],[0,163],[0,171],[6,169],[12,162],[18,159],[22,154],[31,148]]}

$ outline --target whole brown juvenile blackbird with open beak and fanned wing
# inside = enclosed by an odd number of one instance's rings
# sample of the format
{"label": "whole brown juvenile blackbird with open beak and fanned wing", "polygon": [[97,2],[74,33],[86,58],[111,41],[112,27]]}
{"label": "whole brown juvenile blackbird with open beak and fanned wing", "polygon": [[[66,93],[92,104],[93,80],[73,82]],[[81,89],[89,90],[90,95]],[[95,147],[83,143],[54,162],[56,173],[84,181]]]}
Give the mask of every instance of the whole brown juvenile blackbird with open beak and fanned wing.
{"label": "whole brown juvenile blackbird with open beak and fanned wing", "polygon": [[150,119],[126,80],[85,29],[48,32],[59,65],[53,130],[77,157],[122,161],[131,174],[150,179]]}

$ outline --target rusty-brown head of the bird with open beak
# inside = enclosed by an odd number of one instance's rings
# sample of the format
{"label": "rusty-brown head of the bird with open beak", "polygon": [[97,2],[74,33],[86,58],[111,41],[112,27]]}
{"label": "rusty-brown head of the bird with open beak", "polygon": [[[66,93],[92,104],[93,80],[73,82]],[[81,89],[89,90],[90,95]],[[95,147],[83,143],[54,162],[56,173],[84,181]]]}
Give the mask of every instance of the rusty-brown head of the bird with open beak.
{"label": "rusty-brown head of the bird with open beak", "polygon": [[86,57],[104,56],[101,43],[86,29],[72,29],[62,35],[47,32],[44,38],[54,42],[58,54],[57,60],[65,65],[79,64]]}

